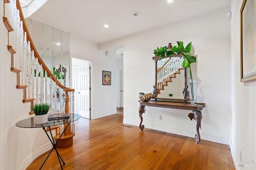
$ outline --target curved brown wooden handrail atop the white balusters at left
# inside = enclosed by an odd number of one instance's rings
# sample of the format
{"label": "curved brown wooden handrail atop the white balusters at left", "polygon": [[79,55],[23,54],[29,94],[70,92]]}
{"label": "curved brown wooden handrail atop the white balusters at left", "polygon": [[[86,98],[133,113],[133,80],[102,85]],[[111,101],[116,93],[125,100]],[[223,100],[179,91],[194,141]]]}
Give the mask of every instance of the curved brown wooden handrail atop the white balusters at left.
{"label": "curved brown wooden handrail atop the white balusters at left", "polygon": [[28,32],[28,27],[27,27],[27,25],[26,25],[25,18],[24,18],[24,16],[23,16],[23,12],[22,12],[22,8],[21,8],[21,6],[20,6],[20,0],[16,0],[16,6],[17,6],[17,9],[20,10],[20,20],[22,20],[22,22],[23,22],[23,30],[24,30],[24,32],[27,33],[27,41],[30,41],[30,48],[31,48],[31,51],[34,50],[34,56],[35,56],[36,58],[38,58],[38,63],[39,63],[40,65],[42,64],[42,67],[43,67],[44,70],[47,71],[48,76],[50,76],[50,77],[52,78],[52,80],[53,80],[54,82],[56,82],[56,84],[57,84],[59,87],[61,87],[62,89],[64,89],[64,92],[65,92],[65,91],[74,92],[74,91],[75,91],[74,89],[63,86],[63,85],[57,80],[57,78],[52,74],[52,72],[49,70],[49,68],[46,66],[46,64],[44,64],[44,61],[41,59],[40,55],[38,54],[38,52],[37,52],[37,50],[36,50],[36,47],[35,47],[35,45],[34,45],[32,39],[31,39],[31,37],[30,37],[29,32]]}

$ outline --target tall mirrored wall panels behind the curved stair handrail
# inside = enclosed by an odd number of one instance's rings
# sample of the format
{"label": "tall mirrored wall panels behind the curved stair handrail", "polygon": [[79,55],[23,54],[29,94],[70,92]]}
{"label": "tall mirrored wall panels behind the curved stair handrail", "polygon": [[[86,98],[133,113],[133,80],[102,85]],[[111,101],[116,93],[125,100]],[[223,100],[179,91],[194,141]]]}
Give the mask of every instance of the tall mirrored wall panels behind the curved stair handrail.
{"label": "tall mirrored wall panels behind the curved stair handrail", "polygon": [[52,74],[70,86],[70,34],[28,18],[25,19],[36,50]]}

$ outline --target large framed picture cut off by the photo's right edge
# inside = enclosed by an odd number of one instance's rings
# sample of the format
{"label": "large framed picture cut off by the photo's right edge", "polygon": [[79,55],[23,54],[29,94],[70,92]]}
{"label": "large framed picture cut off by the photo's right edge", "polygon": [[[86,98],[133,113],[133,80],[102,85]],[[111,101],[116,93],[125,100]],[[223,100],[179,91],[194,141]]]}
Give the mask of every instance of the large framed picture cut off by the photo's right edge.
{"label": "large framed picture cut off by the photo's right edge", "polygon": [[255,5],[255,0],[244,0],[240,10],[241,82],[256,80]]}

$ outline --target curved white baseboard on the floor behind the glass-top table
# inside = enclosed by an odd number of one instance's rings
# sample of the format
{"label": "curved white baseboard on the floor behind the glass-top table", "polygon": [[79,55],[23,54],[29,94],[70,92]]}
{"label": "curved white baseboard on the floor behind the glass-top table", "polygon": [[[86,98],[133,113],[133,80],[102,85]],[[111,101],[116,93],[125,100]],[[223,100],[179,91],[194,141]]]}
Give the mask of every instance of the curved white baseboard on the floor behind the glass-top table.
{"label": "curved white baseboard on the floor behind the glass-top table", "polygon": [[34,150],[34,152],[30,153],[25,160],[20,164],[20,167],[18,170],[26,170],[28,166],[41,154],[44,154],[48,150],[52,149],[52,143],[48,142],[41,147],[39,147],[37,150]]}

